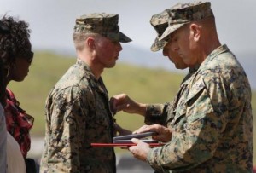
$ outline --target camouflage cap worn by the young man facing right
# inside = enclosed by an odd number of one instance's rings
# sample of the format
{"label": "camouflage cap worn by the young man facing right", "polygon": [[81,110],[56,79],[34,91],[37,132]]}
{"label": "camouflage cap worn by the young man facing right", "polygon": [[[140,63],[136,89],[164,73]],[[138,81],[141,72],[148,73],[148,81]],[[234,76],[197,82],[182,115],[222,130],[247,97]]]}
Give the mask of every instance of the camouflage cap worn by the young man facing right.
{"label": "camouflage cap worn by the young man facing right", "polygon": [[92,13],[84,14],[76,19],[74,32],[99,33],[113,41],[131,42],[131,38],[119,32],[119,14]]}

